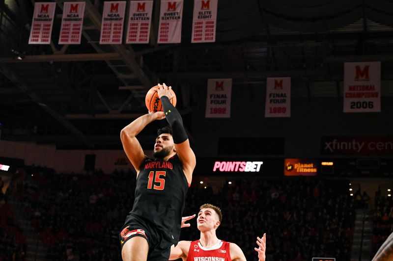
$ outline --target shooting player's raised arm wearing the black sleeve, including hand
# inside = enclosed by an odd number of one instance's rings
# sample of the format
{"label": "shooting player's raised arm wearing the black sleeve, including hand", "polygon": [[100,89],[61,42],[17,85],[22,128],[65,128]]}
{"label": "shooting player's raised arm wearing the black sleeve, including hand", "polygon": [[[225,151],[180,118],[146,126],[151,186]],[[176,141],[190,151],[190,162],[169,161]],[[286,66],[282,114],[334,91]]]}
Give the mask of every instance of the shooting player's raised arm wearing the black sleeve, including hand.
{"label": "shooting player's raised arm wearing the black sleeve, including hand", "polygon": [[183,171],[186,174],[187,181],[188,183],[191,183],[192,174],[197,163],[195,154],[190,147],[190,141],[186,130],[184,130],[183,120],[180,113],[169,101],[172,98],[169,91],[171,86],[168,87],[165,83],[163,85],[158,84],[158,86],[160,88],[157,89],[157,94],[163,104],[165,117],[172,128],[173,142],[175,144],[177,155],[183,164]]}

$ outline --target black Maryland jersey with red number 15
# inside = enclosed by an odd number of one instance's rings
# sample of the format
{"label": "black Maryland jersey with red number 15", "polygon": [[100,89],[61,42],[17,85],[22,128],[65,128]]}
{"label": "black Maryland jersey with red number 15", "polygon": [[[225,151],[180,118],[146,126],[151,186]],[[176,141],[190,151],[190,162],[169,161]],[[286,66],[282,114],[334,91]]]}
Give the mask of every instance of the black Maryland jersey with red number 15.
{"label": "black Maryland jersey with red number 15", "polygon": [[146,158],[141,165],[130,214],[149,221],[177,244],[188,182],[177,155],[162,159]]}

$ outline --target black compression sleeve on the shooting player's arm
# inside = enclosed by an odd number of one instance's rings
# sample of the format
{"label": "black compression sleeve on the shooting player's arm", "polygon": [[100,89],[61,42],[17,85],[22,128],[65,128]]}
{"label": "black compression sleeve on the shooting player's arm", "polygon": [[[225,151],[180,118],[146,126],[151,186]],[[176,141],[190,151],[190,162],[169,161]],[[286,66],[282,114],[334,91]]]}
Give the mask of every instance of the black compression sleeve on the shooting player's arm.
{"label": "black compression sleeve on the shooting player's arm", "polygon": [[170,127],[172,128],[173,142],[175,144],[182,143],[188,139],[186,130],[183,127],[183,120],[177,109],[169,102],[167,96],[161,97],[163,104],[165,118],[167,119]]}

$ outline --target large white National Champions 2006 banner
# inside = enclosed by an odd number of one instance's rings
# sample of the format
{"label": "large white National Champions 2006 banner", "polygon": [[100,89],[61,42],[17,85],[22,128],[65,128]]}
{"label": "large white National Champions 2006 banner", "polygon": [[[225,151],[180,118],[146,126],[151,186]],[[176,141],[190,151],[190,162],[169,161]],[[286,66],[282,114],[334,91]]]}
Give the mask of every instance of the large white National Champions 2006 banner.
{"label": "large white National Champions 2006 banner", "polygon": [[344,112],[381,111],[381,62],[344,63]]}

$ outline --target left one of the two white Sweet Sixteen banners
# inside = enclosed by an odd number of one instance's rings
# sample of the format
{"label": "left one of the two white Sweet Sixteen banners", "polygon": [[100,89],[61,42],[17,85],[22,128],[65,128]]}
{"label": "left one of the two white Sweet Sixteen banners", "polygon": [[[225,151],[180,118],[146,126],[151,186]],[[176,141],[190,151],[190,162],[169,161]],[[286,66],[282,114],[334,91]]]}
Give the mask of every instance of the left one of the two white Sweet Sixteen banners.
{"label": "left one of the two white Sweet Sixteen banners", "polygon": [[153,0],[130,1],[128,14],[127,44],[148,44]]}

